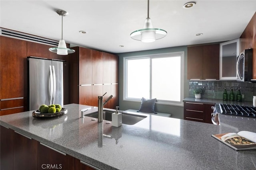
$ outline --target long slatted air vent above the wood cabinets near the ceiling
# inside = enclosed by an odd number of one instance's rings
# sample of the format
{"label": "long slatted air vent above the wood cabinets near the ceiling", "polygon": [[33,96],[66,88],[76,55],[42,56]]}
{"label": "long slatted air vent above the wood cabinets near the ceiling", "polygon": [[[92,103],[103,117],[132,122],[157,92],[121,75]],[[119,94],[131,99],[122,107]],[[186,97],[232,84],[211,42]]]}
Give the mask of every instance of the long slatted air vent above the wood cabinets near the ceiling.
{"label": "long slatted air vent above the wood cabinets near the ceiling", "polygon": [[47,38],[43,38],[43,37],[38,37],[35,35],[30,35],[30,34],[18,32],[18,31],[13,31],[10,29],[5,29],[5,28],[0,28],[0,29],[1,29],[1,35],[6,36],[6,37],[22,39],[25,41],[32,41],[32,42],[51,45],[51,46],[58,46],[58,43],[59,43],[59,41],[55,41],[55,40],[47,39]]}

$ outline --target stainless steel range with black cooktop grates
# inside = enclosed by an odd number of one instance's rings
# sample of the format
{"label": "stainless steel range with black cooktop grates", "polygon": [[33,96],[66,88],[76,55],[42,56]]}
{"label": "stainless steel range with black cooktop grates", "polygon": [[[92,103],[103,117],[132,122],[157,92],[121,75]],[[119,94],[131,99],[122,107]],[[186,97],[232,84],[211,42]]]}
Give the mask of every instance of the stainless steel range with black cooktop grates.
{"label": "stainless steel range with black cooktop grates", "polygon": [[254,117],[256,118],[256,108],[252,106],[239,106],[234,104],[216,104],[212,113],[212,123],[220,125],[219,114]]}

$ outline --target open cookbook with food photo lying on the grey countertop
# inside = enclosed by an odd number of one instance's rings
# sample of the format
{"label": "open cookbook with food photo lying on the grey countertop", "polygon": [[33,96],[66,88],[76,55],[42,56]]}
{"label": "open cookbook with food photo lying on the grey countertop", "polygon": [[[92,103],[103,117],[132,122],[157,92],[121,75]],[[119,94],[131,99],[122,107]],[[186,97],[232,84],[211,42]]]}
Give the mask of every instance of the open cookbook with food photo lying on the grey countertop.
{"label": "open cookbook with food photo lying on the grey countertop", "polygon": [[238,133],[223,133],[211,135],[234,150],[256,149],[256,133],[240,131]]}

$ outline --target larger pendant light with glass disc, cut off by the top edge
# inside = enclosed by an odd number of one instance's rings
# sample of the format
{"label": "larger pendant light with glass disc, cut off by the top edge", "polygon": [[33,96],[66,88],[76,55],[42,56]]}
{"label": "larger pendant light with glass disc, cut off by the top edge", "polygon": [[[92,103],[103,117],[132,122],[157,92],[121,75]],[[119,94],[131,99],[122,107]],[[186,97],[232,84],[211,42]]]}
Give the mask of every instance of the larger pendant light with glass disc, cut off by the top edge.
{"label": "larger pendant light with glass disc, cut off by the top edge", "polygon": [[143,43],[151,43],[156,39],[161,39],[167,35],[164,29],[153,28],[152,21],[149,18],[149,0],[148,0],[148,17],[144,22],[143,29],[138,29],[130,34],[130,37]]}

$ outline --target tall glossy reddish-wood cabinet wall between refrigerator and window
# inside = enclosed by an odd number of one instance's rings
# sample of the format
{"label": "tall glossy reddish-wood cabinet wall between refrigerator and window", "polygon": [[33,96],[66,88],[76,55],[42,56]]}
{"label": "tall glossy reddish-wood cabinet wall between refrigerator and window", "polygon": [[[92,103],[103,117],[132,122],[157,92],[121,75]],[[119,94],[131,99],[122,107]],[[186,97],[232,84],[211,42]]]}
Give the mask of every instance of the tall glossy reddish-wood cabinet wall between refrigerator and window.
{"label": "tall glossy reddish-wood cabinet wall between refrigerator and window", "polygon": [[118,57],[116,55],[72,47],[76,52],[70,57],[70,103],[98,106],[98,96],[107,93],[113,98],[104,106],[118,106]]}

